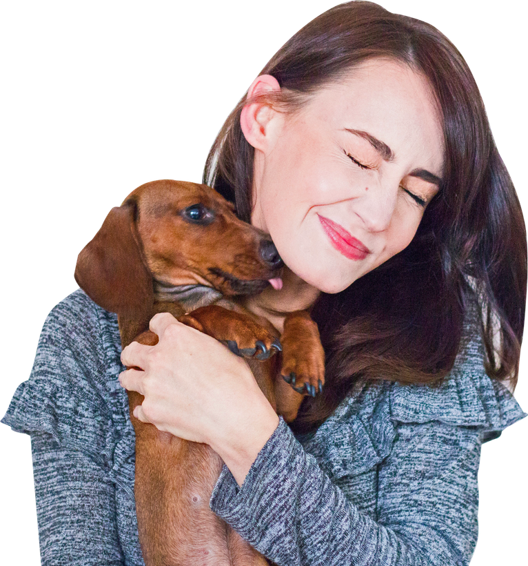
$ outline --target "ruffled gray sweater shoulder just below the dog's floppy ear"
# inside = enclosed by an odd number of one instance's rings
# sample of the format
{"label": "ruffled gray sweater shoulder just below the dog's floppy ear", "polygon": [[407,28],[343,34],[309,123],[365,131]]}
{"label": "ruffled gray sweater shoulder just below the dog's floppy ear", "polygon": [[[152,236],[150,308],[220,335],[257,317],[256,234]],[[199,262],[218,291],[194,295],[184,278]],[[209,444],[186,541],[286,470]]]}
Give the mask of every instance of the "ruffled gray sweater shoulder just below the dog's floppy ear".
{"label": "ruffled gray sweater shoulder just below the dog's floppy ear", "polygon": [[13,431],[49,433],[61,445],[101,454],[110,431],[128,427],[128,401],[116,315],[81,289],[59,301],[43,322],[30,375],[2,418]]}

